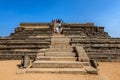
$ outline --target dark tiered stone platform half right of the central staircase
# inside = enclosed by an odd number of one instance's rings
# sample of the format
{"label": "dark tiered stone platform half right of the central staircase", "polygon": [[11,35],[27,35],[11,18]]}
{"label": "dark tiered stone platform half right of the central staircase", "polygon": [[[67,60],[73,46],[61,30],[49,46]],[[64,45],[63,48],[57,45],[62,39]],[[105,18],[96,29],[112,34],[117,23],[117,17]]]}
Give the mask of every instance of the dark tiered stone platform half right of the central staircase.
{"label": "dark tiered stone platform half right of the central staircase", "polygon": [[71,45],[84,47],[90,59],[120,61],[120,38],[111,38],[104,27],[64,24],[63,34],[71,39]]}

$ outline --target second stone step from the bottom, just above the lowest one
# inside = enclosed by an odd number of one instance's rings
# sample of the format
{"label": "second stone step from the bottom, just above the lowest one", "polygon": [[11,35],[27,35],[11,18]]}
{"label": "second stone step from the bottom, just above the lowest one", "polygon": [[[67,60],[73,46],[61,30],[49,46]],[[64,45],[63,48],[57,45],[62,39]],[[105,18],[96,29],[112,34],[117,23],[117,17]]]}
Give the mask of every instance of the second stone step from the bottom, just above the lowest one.
{"label": "second stone step from the bottom, just above the lowest one", "polygon": [[75,61],[35,61],[32,68],[83,68],[89,66],[89,62]]}

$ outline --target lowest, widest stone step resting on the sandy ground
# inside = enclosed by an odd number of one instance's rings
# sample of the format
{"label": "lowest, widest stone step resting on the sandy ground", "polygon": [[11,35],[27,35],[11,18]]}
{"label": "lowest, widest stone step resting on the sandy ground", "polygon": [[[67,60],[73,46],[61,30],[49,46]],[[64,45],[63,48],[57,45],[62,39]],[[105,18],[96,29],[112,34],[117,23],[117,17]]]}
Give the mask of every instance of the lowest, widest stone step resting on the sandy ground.
{"label": "lowest, widest stone step resting on the sandy ground", "polygon": [[87,74],[84,68],[30,68],[30,69],[27,69],[25,73]]}

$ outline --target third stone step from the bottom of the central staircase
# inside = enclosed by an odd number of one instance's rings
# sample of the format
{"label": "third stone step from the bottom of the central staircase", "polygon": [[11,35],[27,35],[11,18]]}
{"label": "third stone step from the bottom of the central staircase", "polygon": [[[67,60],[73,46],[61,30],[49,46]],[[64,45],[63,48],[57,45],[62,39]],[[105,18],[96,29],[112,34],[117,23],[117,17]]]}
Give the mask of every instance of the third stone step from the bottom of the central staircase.
{"label": "third stone step from the bottom of the central staircase", "polygon": [[43,60],[43,61],[76,61],[76,57],[45,57],[39,56],[36,60]]}

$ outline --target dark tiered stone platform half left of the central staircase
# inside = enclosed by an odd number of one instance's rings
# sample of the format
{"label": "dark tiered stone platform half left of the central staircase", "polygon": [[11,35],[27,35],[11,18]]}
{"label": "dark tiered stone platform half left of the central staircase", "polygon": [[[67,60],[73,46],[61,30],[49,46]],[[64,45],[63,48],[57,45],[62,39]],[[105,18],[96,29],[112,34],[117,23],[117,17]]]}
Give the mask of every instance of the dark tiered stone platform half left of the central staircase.
{"label": "dark tiered stone platform half left of the central staircase", "polygon": [[0,59],[34,58],[39,49],[49,48],[52,29],[47,23],[21,23],[15,32],[0,39]]}

